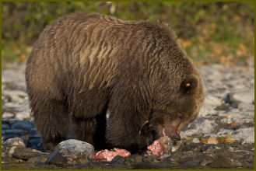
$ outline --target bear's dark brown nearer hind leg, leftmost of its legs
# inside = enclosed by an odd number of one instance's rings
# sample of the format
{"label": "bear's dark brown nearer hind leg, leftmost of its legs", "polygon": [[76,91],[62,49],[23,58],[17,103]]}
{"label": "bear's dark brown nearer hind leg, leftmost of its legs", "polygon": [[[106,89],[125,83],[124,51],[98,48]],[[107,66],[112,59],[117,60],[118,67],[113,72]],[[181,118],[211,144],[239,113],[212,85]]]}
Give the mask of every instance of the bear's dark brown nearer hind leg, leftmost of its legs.
{"label": "bear's dark brown nearer hind leg, leftmost of its legs", "polygon": [[70,117],[65,103],[57,99],[31,103],[34,123],[41,135],[44,148],[52,151],[59,142],[67,138]]}

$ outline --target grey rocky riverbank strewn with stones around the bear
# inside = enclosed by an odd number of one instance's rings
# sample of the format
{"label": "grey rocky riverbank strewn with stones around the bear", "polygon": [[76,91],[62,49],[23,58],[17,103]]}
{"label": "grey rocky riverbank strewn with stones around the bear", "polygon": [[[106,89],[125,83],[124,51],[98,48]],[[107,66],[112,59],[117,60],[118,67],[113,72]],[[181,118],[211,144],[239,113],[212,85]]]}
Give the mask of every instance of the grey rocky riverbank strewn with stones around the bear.
{"label": "grey rocky riverbank strewn with stones around the bear", "polygon": [[254,168],[254,65],[202,65],[206,99],[199,117],[181,132],[176,152],[93,160],[93,146],[68,140],[44,152],[33,126],[25,65],[2,71],[2,169]]}

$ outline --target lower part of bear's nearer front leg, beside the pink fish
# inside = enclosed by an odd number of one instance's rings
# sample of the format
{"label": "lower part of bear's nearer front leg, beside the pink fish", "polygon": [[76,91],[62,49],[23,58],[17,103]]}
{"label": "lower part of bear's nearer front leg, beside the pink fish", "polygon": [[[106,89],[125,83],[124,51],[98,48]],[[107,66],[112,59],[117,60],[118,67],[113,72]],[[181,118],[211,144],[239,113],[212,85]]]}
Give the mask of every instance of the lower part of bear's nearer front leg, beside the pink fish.
{"label": "lower part of bear's nearer front leg, beside the pink fish", "polygon": [[[123,106],[121,108],[123,109]],[[132,153],[145,150],[154,141],[153,131],[140,133],[144,121],[139,117],[138,112],[123,110],[123,113],[120,113],[118,111],[120,110],[110,112],[107,141],[112,148],[124,148]],[[131,114],[131,117],[128,117],[128,114]]]}

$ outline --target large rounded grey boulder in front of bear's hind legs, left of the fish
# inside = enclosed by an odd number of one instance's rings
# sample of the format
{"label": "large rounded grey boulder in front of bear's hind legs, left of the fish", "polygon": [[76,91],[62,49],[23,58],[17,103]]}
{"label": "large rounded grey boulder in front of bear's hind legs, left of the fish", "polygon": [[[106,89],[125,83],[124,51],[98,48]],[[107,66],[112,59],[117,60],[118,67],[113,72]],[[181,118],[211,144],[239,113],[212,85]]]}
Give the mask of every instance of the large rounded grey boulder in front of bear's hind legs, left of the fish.
{"label": "large rounded grey boulder in front of bear's hind legs, left of the fish", "polygon": [[61,141],[51,154],[47,163],[57,166],[86,163],[93,159],[94,148],[87,142],[69,139]]}

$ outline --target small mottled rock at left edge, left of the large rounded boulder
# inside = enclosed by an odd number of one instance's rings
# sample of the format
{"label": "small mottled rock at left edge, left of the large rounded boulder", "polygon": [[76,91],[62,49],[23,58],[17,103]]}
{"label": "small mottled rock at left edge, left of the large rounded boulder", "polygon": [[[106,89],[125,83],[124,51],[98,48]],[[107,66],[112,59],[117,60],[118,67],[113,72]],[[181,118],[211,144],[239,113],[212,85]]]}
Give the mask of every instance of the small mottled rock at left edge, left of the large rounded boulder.
{"label": "small mottled rock at left edge, left of the large rounded boulder", "polygon": [[22,138],[9,138],[5,141],[5,143],[2,145],[3,152],[12,155],[15,148],[25,148],[26,145]]}

